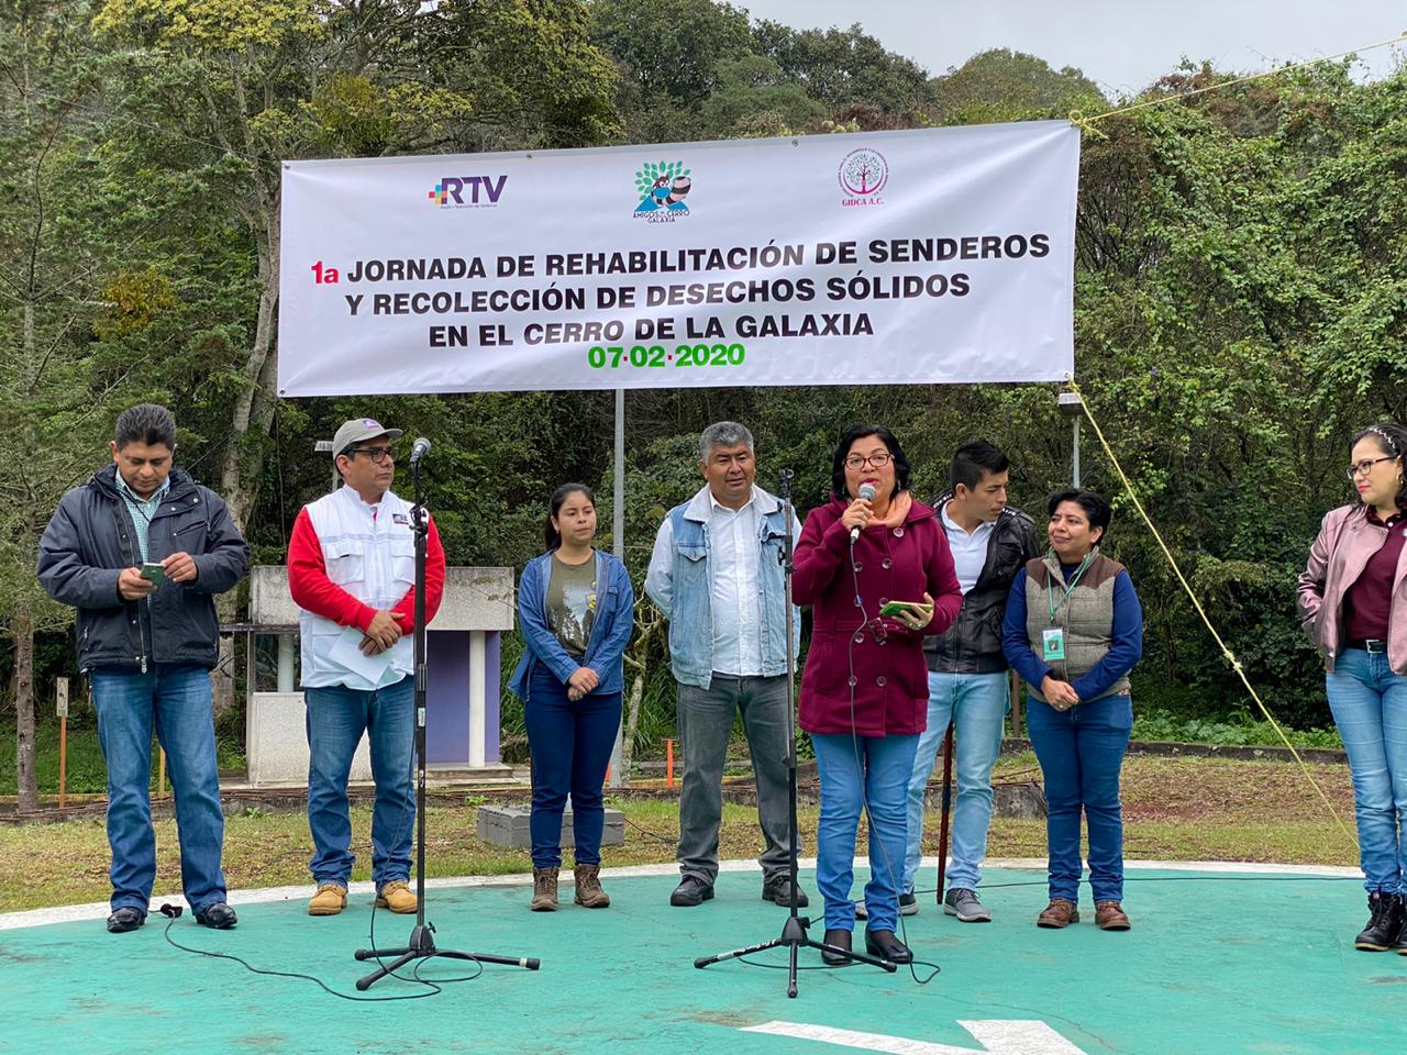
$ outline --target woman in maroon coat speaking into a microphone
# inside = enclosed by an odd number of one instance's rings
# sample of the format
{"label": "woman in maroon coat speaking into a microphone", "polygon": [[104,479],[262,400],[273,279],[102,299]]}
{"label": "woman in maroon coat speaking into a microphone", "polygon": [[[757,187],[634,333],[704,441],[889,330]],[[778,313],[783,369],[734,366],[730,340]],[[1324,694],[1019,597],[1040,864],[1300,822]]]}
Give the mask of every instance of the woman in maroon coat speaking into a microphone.
{"label": "woman in maroon coat speaking into a microphone", "polygon": [[[796,603],[812,606],[801,727],[810,733],[820,772],[816,886],[826,899],[826,944],[850,948],[864,806],[865,948],[893,962],[913,959],[893,931],[908,782],[929,713],[923,634],[947,630],[962,606],[947,536],[933,509],[909,494],[909,470],[888,429],[864,425],[846,433],[832,464],[834,491],[806,518],[792,582]],[[908,603],[881,615],[891,602]]]}

